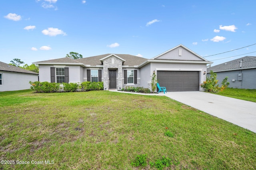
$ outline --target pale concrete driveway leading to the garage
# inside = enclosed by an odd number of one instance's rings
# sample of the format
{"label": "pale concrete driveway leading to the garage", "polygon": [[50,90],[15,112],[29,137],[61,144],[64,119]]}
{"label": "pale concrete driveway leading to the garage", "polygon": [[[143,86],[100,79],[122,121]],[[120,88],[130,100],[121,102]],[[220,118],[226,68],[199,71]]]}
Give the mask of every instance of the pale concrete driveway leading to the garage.
{"label": "pale concrete driveway leading to the garage", "polygon": [[256,103],[201,91],[168,92],[166,97],[256,132]]}

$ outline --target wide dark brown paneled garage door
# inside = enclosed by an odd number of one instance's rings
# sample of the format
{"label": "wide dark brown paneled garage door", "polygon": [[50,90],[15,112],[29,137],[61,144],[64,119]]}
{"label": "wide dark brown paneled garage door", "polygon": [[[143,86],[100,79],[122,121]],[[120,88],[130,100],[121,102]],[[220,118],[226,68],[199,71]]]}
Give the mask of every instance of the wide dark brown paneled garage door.
{"label": "wide dark brown paneled garage door", "polygon": [[199,91],[199,71],[157,71],[157,79],[167,91]]}

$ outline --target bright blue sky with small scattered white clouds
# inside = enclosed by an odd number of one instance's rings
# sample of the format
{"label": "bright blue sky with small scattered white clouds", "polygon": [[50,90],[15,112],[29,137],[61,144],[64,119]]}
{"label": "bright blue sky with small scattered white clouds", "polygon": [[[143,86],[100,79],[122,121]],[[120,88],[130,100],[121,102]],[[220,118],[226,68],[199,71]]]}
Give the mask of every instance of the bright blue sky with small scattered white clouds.
{"label": "bright blue sky with small scattered white clouds", "polygon": [[[255,8],[256,0],[1,0],[0,61],[30,65],[70,51],[150,59],[179,44],[206,57],[256,43]],[[254,51],[206,59],[216,65]]]}

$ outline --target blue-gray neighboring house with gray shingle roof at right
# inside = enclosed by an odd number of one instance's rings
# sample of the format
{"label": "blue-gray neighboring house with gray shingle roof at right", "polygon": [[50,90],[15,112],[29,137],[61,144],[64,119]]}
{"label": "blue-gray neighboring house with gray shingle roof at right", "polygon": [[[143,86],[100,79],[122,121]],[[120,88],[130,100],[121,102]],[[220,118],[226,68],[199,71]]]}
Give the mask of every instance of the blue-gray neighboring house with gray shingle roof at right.
{"label": "blue-gray neighboring house with gray shingle roof at right", "polygon": [[219,84],[228,77],[229,87],[256,89],[256,57],[246,56],[207,68],[217,73]]}

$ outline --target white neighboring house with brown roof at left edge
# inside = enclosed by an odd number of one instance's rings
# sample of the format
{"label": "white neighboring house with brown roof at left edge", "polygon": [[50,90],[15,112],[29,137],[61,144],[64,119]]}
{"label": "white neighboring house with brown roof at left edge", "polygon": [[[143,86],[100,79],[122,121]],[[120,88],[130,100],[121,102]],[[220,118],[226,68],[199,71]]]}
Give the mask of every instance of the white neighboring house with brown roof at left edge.
{"label": "white neighboring house with brown roof at left edge", "polygon": [[0,62],[0,91],[29,89],[29,81],[38,81],[38,73]]}

